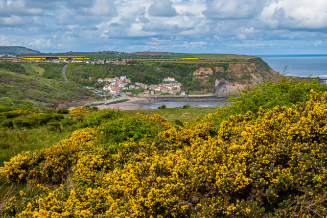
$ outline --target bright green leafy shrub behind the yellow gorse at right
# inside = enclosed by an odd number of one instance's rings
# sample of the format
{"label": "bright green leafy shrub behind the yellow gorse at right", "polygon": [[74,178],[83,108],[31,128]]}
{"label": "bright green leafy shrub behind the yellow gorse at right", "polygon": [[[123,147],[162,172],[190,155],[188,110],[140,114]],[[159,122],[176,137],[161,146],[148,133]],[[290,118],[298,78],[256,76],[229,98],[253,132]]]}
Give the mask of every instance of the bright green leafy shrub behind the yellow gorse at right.
{"label": "bright green leafy shrub behind the yellow gorse at right", "polygon": [[295,78],[277,76],[266,83],[242,90],[236,97],[228,98],[225,107],[219,107],[215,114],[210,115],[211,121],[219,127],[222,120],[231,115],[251,111],[254,117],[258,117],[260,108],[292,107],[299,102],[308,101],[311,90],[327,91],[327,84],[320,83],[318,79],[299,81]]}

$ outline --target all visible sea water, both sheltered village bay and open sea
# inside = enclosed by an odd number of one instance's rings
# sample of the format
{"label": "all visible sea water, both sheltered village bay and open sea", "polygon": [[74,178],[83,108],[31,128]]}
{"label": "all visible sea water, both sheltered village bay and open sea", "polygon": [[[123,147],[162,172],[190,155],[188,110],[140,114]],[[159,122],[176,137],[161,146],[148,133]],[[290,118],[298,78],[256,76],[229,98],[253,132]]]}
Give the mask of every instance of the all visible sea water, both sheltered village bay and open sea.
{"label": "all visible sea water, both sheltered village bay and open sea", "polygon": [[[288,76],[297,77],[320,77],[327,78],[327,55],[256,55],[261,57],[275,71]],[[157,109],[165,104],[167,108],[183,107],[183,105],[191,105],[197,107],[224,107],[221,102],[165,102],[155,100],[154,102],[138,103]]]}

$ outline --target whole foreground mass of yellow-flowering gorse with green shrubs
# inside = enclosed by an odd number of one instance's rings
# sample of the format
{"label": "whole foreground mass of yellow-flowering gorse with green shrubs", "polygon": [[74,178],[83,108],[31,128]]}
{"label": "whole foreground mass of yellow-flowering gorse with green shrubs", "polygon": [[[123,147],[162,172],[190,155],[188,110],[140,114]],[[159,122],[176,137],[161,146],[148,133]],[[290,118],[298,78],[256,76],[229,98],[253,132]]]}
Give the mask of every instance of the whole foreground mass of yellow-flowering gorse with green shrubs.
{"label": "whole foreground mass of yellow-flowering gorse with green shrubs", "polygon": [[322,216],[326,90],[277,77],[175,126],[155,114],[85,113],[71,136],[0,168],[2,215]]}

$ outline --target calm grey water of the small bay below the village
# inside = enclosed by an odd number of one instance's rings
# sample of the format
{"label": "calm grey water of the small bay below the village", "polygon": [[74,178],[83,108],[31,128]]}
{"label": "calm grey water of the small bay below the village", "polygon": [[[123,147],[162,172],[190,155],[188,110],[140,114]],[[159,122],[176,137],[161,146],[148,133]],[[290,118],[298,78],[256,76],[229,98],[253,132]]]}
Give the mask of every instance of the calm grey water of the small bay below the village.
{"label": "calm grey water of the small bay below the village", "polygon": [[224,107],[222,102],[168,102],[168,101],[160,101],[160,100],[153,100],[153,102],[139,102],[137,104],[145,105],[152,109],[157,109],[159,106],[166,105],[167,108],[176,108],[176,107],[183,107],[184,105],[196,106],[196,107]]}

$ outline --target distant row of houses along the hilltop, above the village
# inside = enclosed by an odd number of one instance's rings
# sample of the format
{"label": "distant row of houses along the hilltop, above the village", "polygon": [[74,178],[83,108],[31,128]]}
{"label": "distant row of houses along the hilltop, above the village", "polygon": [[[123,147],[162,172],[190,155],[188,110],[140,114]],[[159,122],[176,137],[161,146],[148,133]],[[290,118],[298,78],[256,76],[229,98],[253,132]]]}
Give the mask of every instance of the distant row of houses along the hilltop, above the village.
{"label": "distant row of houses along the hilltop, above the village", "polygon": [[12,63],[87,63],[87,64],[104,64],[104,63],[112,63],[112,64],[123,64],[126,65],[126,61],[122,60],[80,60],[80,59],[73,59],[73,60],[66,60],[66,59],[54,59],[54,60],[43,60],[43,59],[14,59]]}

